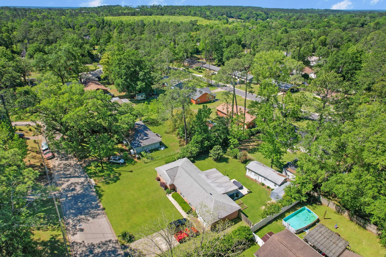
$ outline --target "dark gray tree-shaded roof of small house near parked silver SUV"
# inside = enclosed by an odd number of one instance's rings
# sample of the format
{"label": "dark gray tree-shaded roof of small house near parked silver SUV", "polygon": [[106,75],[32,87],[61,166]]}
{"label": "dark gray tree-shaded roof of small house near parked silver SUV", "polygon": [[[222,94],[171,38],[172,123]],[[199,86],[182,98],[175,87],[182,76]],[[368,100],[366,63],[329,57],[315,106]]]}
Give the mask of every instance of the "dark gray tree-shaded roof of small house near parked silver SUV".
{"label": "dark gray tree-shaded roof of small house near parked silver SUV", "polygon": [[143,122],[134,123],[134,134],[130,137],[131,147],[137,148],[161,141]]}

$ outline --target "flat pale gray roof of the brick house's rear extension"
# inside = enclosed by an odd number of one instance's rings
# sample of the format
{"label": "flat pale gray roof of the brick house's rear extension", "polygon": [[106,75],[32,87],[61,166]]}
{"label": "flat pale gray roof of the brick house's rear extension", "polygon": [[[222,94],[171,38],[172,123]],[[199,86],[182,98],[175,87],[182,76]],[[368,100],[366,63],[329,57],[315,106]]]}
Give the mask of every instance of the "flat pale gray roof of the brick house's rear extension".
{"label": "flat pale gray roof of the brick house's rear extension", "polygon": [[216,168],[203,171],[200,175],[220,194],[225,194],[238,188]]}

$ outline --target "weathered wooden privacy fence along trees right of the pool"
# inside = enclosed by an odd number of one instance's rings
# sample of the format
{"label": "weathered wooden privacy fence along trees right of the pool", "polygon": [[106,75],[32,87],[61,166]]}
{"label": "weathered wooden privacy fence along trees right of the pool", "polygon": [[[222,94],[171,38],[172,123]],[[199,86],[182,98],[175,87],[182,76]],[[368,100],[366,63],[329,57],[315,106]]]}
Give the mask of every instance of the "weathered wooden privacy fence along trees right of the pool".
{"label": "weathered wooden privacy fence along trees right of the pool", "polygon": [[323,205],[326,205],[327,207],[330,207],[332,210],[334,210],[337,213],[345,216],[349,220],[357,223],[362,228],[365,228],[366,230],[369,230],[371,233],[373,233],[375,235],[379,234],[379,228],[376,225],[371,224],[369,221],[364,220],[364,219],[362,219],[361,217],[359,217],[359,216],[357,216],[355,214],[352,214],[351,211],[346,210],[342,206],[335,204],[334,202],[324,198],[323,196],[321,196],[318,193],[313,193],[313,194],[318,197],[318,199],[320,200],[320,202],[322,202]]}

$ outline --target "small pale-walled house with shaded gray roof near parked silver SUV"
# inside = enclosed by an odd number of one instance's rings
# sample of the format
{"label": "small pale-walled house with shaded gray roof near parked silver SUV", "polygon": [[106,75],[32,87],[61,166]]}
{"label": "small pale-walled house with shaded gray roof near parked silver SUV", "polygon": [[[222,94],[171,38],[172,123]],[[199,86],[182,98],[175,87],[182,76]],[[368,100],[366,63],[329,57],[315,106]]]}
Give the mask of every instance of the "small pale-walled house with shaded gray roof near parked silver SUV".
{"label": "small pale-walled house with shaded gray roof near parked silver SUV", "polygon": [[139,121],[134,123],[129,143],[136,154],[146,149],[157,149],[159,148],[160,142],[162,142],[161,138],[154,134],[143,122]]}

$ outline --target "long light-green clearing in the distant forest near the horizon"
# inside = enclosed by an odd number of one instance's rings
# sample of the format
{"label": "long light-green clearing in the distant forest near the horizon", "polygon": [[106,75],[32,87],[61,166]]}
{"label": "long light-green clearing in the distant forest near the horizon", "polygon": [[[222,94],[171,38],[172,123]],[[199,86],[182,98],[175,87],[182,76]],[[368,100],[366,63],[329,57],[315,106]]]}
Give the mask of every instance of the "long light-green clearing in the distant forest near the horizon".
{"label": "long light-green clearing in the distant forest near the horizon", "polygon": [[138,20],[143,20],[145,23],[152,22],[153,20],[159,22],[190,22],[191,20],[196,20],[197,24],[207,25],[207,24],[218,24],[218,21],[215,20],[206,20],[200,17],[193,16],[171,16],[171,15],[152,15],[152,16],[117,16],[117,17],[105,17],[107,20],[111,21],[120,21],[123,22],[135,22]]}

